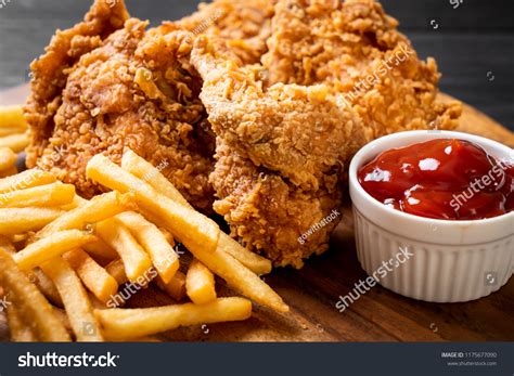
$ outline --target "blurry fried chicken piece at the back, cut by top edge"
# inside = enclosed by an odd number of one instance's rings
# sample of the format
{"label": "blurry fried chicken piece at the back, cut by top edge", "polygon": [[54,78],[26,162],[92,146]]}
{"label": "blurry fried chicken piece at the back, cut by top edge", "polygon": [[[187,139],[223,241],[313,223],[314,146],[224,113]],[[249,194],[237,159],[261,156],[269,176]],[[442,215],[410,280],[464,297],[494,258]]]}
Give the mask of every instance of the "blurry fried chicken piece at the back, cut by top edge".
{"label": "blurry fried chicken piece at the back, cut by top edge", "polygon": [[245,64],[260,62],[271,36],[274,0],[216,0],[201,3],[198,11],[177,24],[194,35],[216,36],[227,41]]}

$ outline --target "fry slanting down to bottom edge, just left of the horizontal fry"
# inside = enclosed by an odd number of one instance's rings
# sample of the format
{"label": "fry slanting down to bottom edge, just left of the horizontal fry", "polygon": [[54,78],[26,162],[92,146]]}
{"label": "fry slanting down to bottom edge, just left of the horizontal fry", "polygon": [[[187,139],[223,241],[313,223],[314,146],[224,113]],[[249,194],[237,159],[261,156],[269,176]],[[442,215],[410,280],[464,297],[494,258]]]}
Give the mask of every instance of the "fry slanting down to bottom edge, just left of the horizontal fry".
{"label": "fry slanting down to bottom edge, just left of the horizontal fry", "polygon": [[63,258],[55,257],[43,263],[41,269],[57,287],[77,340],[103,341],[88,294],[72,267]]}

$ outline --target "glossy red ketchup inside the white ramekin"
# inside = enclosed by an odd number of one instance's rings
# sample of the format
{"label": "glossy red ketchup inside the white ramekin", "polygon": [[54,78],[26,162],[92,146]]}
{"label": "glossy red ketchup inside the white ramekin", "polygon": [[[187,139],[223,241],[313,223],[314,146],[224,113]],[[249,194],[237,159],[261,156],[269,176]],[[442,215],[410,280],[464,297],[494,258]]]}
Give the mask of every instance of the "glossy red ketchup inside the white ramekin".
{"label": "glossy red ketchup inside the white ramekin", "polygon": [[381,203],[414,216],[476,220],[514,208],[514,165],[463,140],[432,140],[380,154],[359,182]]}

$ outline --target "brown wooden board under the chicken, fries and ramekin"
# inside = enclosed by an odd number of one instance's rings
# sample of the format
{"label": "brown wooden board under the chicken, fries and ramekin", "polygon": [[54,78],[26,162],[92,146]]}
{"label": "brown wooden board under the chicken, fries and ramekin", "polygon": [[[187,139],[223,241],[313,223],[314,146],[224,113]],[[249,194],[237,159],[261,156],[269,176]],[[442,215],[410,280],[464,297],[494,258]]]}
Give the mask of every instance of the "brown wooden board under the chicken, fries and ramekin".
{"label": "brown wooden board under the chicken, fries and ramekin", "polygon": [[[0,92],[0,105],[22,103],[26,87]],[[444,100],[451,100],[441,95]],[[514,133],[494,120],[465,106],[460,131],[475,133],[514,147]],[[174,341],[484,341],[514,340],[514,278],[499,291],[466,303],[428,303],[404,298],[381,286],[361,296],[344,313],[335,303],[367,274],[355,248],[351,209],[343,211],[331,249],[312,257],[304,269],[278,269],[264,278],[291,307],[278,314],[255,307],[252,319],[181,328],[155,337]],[[222,281],[218,281],[222,285]],[[231,293],[223,286],[221,294]],[[149,289],[129,302],[151,307],[171,301],[164,294]],[[0,315],[0,339],[9,334]]]}

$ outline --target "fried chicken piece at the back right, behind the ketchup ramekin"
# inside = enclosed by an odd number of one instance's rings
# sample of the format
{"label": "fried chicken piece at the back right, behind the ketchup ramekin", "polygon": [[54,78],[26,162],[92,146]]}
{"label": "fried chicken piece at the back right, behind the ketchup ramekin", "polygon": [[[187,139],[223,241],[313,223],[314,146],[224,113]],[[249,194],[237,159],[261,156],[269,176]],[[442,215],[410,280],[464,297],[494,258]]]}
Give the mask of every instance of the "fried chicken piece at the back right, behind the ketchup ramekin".
{"label": "fried chicken piece at the back right, behind the ketchup ramekin", "polygon": [[280,0],[269,52],[269,85],[326,83],[373,138],[411,129],[453,129],[457,102],[436,99],[436,62],[419,60],[398,22],[374,0]]}

